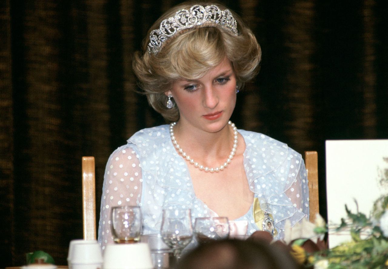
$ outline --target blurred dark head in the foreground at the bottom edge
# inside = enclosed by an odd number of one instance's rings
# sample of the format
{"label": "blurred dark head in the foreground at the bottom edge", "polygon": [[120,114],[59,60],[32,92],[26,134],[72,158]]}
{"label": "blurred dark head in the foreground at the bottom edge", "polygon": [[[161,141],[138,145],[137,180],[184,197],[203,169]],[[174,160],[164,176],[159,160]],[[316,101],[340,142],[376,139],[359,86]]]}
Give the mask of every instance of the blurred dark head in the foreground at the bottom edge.
{"label": "blurred dark head in the foreground at the bottom edge", "polygon": [[222,240],[199,245],[175,269],[298,269],[291,255],[260,241]]}

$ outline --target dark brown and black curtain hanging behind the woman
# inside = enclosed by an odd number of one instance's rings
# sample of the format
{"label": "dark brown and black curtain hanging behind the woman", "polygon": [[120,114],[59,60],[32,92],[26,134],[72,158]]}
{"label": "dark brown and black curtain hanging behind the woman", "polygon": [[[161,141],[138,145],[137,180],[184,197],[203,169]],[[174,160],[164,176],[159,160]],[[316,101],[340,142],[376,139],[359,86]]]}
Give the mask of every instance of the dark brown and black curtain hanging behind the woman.
{"label": "dark brown and black curtain hanging behind the woman", "polygon": [[[66,264],[69,241],[82,238],[81,156],[96,158],[99,208],[109,154],[164,123],[134,93],[131,60],[178,2],[0,1],[0,267],[24,264],[33,250]],[[263,51],[232,120],[319,152],[325,216],[325,140],[388,138],[388,2],[223,3]]]}

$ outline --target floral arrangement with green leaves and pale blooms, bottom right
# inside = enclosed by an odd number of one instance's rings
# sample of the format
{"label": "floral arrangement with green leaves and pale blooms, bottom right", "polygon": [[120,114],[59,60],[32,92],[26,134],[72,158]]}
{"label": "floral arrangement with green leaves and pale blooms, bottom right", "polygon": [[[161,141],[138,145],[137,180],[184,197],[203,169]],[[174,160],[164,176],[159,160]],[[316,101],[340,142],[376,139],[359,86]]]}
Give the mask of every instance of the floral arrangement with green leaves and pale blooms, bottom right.
{"label": "floral arrangement with green leaves and pale blooms, bottom right", "polygon": [[[384,161],[388,163],[388,158]],[[388,185],[388,169],[379,170],[379,182],[382,186]],[[305,268],[388,268],[388,194],[374,202],[370,217],[352,212],[347,206],[345,211],[347,218],[341,219],[334,230],[350,233],[350,242],[328,249],[322,240],[327,226],[317,215],[315,223],[304,221],[292,229],[286,227],[285,241],[291,246],[291,254]],[[300,235],[306,234],[301,238]]]}

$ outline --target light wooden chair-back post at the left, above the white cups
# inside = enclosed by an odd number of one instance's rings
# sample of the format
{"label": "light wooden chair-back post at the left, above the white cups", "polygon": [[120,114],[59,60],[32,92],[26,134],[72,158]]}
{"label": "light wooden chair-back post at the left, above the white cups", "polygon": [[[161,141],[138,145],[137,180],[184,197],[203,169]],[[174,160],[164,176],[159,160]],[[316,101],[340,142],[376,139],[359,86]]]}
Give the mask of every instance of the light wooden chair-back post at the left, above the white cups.
{"label": "light wooden chair-back post at the left, above the white cups", "polygon": [[94,157],[82,157],[83,239],[96,239],[96,199]]}

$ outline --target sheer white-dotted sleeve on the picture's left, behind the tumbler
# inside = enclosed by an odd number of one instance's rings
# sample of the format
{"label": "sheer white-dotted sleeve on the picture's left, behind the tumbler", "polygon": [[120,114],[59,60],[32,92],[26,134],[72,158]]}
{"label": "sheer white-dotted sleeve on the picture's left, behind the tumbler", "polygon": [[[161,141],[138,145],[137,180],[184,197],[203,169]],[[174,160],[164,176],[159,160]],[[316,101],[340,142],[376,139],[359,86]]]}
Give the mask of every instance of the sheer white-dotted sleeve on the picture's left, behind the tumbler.
{"label": "sheer white-dotted sleeve on the picture's left, behind the tumbler", "polygon": [[112,243],[111,208],[140,203],[142,173],[139,156],[128,145],[119,147],[109,157],[102,186],[98,241],[102,250]]}

